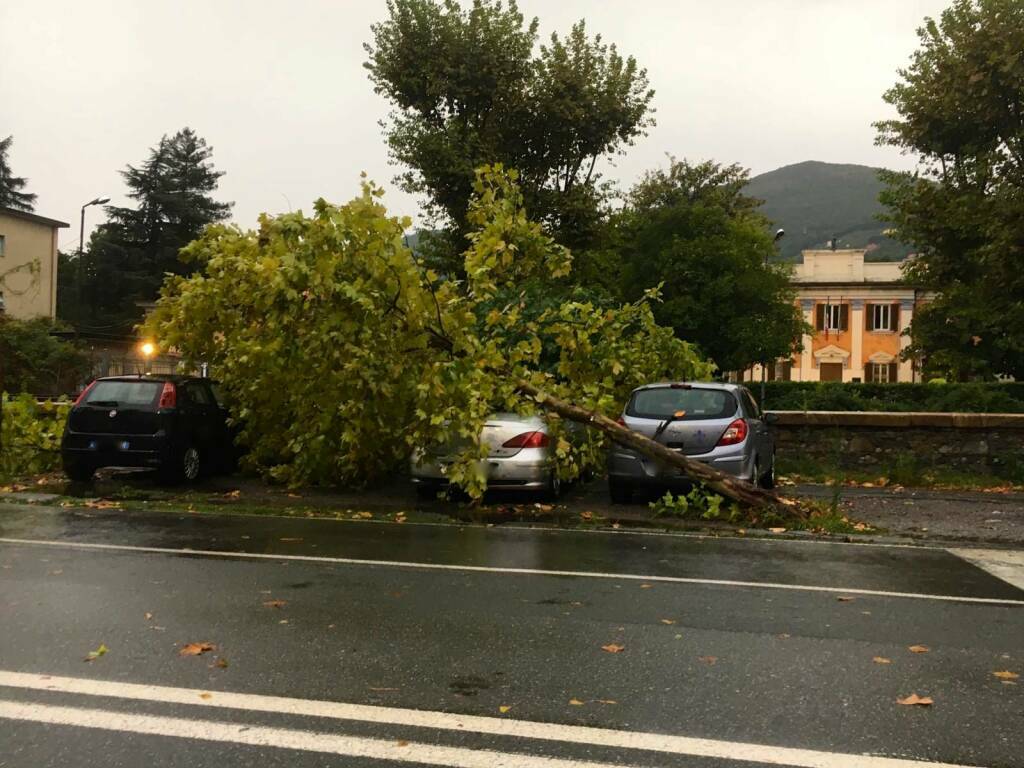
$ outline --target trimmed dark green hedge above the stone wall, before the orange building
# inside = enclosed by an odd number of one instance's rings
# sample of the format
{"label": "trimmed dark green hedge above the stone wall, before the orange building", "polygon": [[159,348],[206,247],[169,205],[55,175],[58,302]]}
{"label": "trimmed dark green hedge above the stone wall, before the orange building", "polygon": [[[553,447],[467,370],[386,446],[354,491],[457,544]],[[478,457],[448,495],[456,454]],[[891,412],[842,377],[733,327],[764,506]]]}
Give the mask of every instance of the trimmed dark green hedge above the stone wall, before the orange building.
{"label": "trimmed dark green hedge above the stone wall, before the orange building", "polygon": [[[748,384],[756,397],[761,384]],[[963,384],[842,384],[770,381],[768,411],[918,411],[1024,414],[1024,382]]]}

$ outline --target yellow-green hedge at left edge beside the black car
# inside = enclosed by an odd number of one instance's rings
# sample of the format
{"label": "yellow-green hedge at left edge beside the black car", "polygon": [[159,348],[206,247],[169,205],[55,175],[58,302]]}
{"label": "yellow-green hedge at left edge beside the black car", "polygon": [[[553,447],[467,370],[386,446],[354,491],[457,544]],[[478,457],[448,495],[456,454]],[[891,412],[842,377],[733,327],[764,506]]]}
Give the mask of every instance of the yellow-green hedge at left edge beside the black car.
{"label": "yellow-green hedge at left edge beside the black car", "polygon": [[71,402],[37,402],[30,394],[3,395],[0,480],[60,467],[60,438]]}

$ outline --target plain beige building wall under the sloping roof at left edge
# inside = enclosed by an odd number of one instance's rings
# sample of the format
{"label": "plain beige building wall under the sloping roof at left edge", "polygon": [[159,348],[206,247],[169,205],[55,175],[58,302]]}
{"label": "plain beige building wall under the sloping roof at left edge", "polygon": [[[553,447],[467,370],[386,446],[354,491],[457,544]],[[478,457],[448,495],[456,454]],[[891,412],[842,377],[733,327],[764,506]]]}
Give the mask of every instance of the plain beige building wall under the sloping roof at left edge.
{"label": "plain beige building wall under the sloping roof at left edge", "polygon": [[[57,305],[56,227],[0,212],[0,281],[4,312],[16,319],[55,317]],[[30,270],[38,264],[38,273]]]}

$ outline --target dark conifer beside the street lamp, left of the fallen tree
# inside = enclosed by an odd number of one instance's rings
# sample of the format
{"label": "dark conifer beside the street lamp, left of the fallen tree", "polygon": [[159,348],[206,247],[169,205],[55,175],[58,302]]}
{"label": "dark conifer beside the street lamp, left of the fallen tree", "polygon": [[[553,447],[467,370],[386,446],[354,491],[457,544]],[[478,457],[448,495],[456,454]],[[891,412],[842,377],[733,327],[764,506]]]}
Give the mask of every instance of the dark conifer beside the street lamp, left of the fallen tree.
{"label": "dark conifer beside the street lamp, left of the fallen tree", "polygon": [[106,207],[108,221],[96,227],[86,254],[84,305],[69,319],[129,330],[141,317],[138,302],[156,300],[167,273],[193,270],[179,251],[230,215],[231,204],[213,198],[223,172],[212,158],[213,147],[184,128],[121,172],[135,206]]}

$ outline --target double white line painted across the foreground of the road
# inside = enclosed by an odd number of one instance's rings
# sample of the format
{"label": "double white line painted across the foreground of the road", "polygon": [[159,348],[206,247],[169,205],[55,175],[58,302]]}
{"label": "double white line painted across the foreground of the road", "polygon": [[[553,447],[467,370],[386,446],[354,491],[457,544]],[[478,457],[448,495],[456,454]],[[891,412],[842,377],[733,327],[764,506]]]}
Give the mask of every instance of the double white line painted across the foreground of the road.
{"label": "double white line painted across the foreground of the road", "polygon": [[[264,696],[253,693],[139,685],[87,678],[49,677],[19,672],[0,671],[0,686],[214,709],[354,720],[590,746],[643,750],[687,757],[739,760],[759,765],[783,765],[792,768],[966,768],[950,763],[929,763],[872,755],[817,752],[767,744],[674,736],[664,733],[620,731],[610,728],[589,728],[579,725],[538,723],[528,720],[455,715],[425,710],[374,707],[285,696]],[[203,698],[204,695],[209,697]],[[458,766],[459,768],[495,768],[495,766],[503,766],[503,768],[566,768],[567,766],[605,768],[604,764],[585,763],[577,760],[433,746],[425,743],[410,743],[406,746],[399,746],[395,740],[359,738],[301,729],[131,715],[108,710],[54,707],[8,700],[0,700],[0,719],[3,718],[430,765]],[[620,766],[620,768],[624,767]]]}

